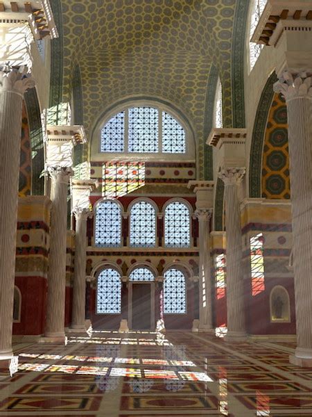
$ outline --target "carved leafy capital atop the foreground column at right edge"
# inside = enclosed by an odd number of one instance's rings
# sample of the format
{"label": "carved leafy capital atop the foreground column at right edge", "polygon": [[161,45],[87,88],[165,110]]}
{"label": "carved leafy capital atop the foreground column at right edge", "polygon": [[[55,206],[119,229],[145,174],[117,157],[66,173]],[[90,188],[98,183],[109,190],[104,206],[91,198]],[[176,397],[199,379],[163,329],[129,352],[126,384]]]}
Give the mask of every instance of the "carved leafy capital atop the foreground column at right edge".
{"label": "carved leafy capital atop the foreground column at right edge", "polygon": [[286,101],[299,98],[311,98],[311,75],[306,72],[292,74],[285,71],[279,81],[277,81],[273,89],[275,92],[281,92]]}

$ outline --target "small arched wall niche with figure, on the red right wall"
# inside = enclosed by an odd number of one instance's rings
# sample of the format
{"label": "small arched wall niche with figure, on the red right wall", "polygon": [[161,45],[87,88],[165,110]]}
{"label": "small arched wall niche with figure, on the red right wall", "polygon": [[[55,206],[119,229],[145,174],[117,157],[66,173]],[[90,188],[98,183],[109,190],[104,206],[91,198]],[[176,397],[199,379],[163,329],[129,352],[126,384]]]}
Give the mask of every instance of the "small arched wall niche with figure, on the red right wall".
{"label": "small arched wall niche with figure, on the red right wall", "polygon": [[277,285],[270,292],[270,322],[291,322],[291,302],[284,286]]}

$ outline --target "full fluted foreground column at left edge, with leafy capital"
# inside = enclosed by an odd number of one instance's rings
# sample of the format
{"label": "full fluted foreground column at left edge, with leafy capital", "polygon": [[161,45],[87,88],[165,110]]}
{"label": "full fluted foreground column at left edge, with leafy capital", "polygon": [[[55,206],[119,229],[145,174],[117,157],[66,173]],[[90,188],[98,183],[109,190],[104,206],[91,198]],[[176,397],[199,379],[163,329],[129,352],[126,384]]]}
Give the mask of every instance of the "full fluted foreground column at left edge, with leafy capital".
{"label": "full fluted foreground column at left edge, with leafy capital", "polygon": [[21,109],[34,85],[23,72],[0,71],[0,360],[12,357]]}

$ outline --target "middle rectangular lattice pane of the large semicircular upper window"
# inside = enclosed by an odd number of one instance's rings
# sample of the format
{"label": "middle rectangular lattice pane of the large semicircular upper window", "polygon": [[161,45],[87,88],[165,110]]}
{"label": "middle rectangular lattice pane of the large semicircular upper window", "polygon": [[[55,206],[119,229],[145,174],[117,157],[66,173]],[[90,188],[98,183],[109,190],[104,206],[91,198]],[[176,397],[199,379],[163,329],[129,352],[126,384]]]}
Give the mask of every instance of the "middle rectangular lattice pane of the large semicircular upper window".
{"label": "middle rectangular lattice pane of the large semicircular upper window", "polygon": [[158,152],[158,111],[153,107],[129,109],[129,152]]}

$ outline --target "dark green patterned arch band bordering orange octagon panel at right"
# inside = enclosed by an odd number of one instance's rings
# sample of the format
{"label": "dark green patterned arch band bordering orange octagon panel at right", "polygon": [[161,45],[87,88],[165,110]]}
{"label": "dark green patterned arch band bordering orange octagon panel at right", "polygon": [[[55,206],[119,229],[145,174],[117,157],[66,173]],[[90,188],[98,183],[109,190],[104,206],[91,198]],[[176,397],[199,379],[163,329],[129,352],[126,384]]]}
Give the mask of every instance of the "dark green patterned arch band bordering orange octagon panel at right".
{"label": "dark green patterned arch band bordering orange octagon panel at right", "polygon": [[252,143],[250,147],[250,169],[249,169],[249,195],[250,197],[261,197],[261,170],[263,140],[266,131],[268,114],[272,105],[274,95],[273,84],[277,76],[273,72],[266,82],[261,94],[257,113],[254,118],[254,129],[252,131]]}

